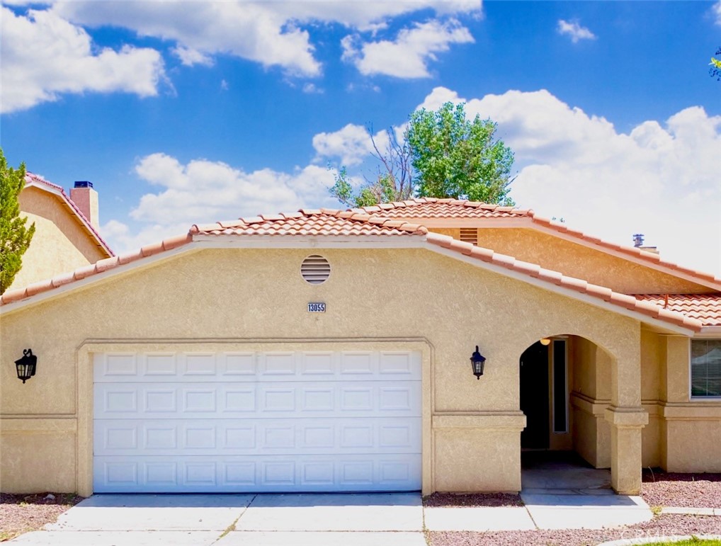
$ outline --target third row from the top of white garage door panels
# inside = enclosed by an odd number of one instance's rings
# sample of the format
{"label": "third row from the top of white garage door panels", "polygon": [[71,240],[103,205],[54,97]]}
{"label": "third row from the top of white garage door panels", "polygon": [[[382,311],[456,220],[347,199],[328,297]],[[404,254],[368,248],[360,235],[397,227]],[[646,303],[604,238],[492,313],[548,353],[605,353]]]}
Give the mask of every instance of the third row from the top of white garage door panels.
{"label": "third row from the top of white garage door panels", "polygon": [[420,418],[96,420],[94,454],[412,454]]}

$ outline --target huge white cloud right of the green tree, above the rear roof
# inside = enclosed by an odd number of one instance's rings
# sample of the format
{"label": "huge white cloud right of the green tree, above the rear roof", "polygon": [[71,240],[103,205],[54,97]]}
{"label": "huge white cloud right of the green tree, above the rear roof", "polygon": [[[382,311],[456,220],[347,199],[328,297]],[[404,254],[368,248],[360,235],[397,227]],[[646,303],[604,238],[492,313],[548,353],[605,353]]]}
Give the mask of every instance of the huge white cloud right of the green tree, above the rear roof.
{"label": "huge white cloud right of the green tree, above the rear roof", "polygon": [[665,260],[721,273],[721,116],[688,107],[623,133],[545,90],[464,102],[469,115],[495,120],[515,151],[519,206],[622,245],[643,233]]}

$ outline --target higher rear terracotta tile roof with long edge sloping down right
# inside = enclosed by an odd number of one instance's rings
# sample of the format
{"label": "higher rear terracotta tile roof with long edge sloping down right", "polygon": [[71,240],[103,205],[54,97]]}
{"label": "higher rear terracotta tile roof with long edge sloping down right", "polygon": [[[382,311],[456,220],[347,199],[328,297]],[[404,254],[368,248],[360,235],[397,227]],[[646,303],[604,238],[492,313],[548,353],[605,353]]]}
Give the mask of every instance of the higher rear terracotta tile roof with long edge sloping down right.
{"label": "higher rear terracotta tile roof with long edge sloping down right", "polygon": [[[591,237],[576,229],[569,229],[562,222],[549,220],[537,216],[533,210],[512,208],[500,205],[490,205],[479,201],[463,201],[459,199],[415,198],[407,201],[395,201],[376,206],[350,209],[353,212],[365,213],[371,216],[394,219],[486,219],[489,227],[534,227],[541,231],[552,232],[568,237],[570,240],[597,247],[605,252],[618,252],[624,257],[638,260],[640,263],[652,265],[669,273],[678,275],[682,273],[706,285],[711,283],[713,289],[721,290],[721,278],[699,270],[681,267],[675,263],[662,260],[655,252],[647,252],[637,247],[616,245],[616,243],[603,241],[598,237]],[[501,221],[502,223],[497,223]],[[492,222],[492,223],[491,223]],[[423,221],[419,222],[423,224]],[[478,224],[482,227],[484,224]]]}

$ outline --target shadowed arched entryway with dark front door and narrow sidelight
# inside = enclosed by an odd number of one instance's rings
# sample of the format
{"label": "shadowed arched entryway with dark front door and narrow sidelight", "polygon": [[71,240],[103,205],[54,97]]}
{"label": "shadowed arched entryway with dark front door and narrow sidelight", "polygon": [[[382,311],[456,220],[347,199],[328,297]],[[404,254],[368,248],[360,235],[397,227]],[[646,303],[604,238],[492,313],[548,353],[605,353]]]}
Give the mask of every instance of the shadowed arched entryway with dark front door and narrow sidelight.
{"label": "shadowed arched entryway with dark front door and narrow sidelight", "polygon": [[[525,469],[606,469],[567,473],[559,488],[611,487],[612,358],[599,345],[578,335],[559,334],[529,345],[519,361],[520,407],[526,415],[521,433]],[[579,483],[575,479],[582,477]],[[555,478],[554,478],[555,479]]]}

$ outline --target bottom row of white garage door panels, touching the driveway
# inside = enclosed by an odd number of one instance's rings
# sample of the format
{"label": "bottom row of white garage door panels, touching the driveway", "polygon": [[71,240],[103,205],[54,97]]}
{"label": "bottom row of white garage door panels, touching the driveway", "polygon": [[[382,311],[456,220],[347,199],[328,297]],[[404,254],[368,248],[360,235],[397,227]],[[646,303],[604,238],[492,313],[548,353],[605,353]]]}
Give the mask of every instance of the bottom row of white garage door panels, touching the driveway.
{"label": "bottom row of white garage door panels, touching the driveway", "polygon": [[97,493],[259,493],[420,489],[420,455],[150,457],[96,461]]}

